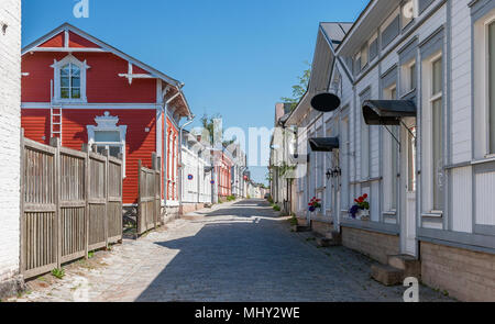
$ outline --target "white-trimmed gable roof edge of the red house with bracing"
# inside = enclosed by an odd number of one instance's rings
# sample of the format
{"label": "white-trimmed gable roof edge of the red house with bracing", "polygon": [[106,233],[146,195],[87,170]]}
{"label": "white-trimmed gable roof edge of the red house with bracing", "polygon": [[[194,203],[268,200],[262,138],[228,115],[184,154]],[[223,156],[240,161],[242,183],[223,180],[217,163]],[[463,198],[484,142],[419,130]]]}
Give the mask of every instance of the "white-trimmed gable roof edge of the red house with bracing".
{"label": "white-trimmed gable roof edge of the red house with bracing", "polygon": [[[79,35],[80,37],[90,41],[91,43],[94,43],[92,45],[96,45],[98,47],[91,47],[91,46],[86,47],[86,48],[81,48],[81,47],[65,47],[65,46],[68,46],[67,45],[68,42],[66,42],[66,44],[63,47],[54,47],[54,48],[51,48],[51,47],[48,47],[48,48],[38,47],[40,45],[42,45],[45,42],[52,40],[53,37],[59,35],[61,33],[66,33],[66,32],[72,32],[72,33],[74,33],[76,35]],[[157,70],[157,69],[155,69],[155,68],[153,68],[153,67],[151,67],[151,66],[148,66],[148,65],[146,65],[144,63],[142,63],[141,60],[139,60],[139,59],[136,59],[136,58],[134,58],[134,57],[132,57],[132,56],[130,56],[130,55],[128,55],[128,54],[117,49],[116,47],[113,47],[113,46],[111,46],[111,45],[109,45],[109,44],[98,40],[97,37],[91,36],[90,34],[79,30],[78,27],[76,27],[76,26],[74,26],[74,25],[72,25],[69,23],[62,24],[61,26],[56,27],[55,30],[51,31],[50,33],[45,34],[44,36],[42,36],[42,37],[37,38],[36,41],[32,42],[31,44],[24,46],[22,48],[21,55],[24,55],[24,54],[33,52],[33,51],[41,51],[41,49],[44,49],[44,52],[52,52],[52,51],[55,52],[55,51],[57,51],[59,48],[62,48],[62,51],[64,51],[64,52],[102,52],[102,53],[109,52],[109,53],[112,53],[112,54],[114,54],[114,55],[117,55],[117,56],[128,60],[130,64],[132,64],[132,65],[134,65],[134,66],[136,66],[136,67],[139,67],[139,68],[141,68],[141,69],[143,69],[143,70],[145,70],[147,72],[150,72],[150,75],[152,77],[161,79],[161,80],[165,81],[166,83],[175,87],[176,90],[180,92],[180,98],[183,99],[185,109],[187,110],[187,113],[190,115],[191,112],[190,112],[189,104],[188,104],[188,102],[186,100],[186,96],[184,96],[184,93],[180,90],[182,87],[184,86],[183,82],[180,82],[180,81],[169,77],[168,75],[166,75],[166,74],[164,74],[164,72],[162,72],[162,71],[160,71],[160,70]]]}

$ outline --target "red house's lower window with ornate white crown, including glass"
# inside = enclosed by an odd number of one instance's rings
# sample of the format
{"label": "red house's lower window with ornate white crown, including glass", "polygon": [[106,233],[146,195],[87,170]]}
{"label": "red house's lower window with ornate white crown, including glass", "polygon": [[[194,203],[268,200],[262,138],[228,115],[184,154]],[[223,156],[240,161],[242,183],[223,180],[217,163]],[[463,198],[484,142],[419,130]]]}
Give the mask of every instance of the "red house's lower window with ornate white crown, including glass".
{"label": "red house's lower window with ornate white crown, including glass", "polygon": [[109,150],[109,155],[119,157],[122,154],[122,174],[125,177],[125,134],[128,126],[117,125],[118,116],[112,116],[108,111],[102,116],[95,118],[95,125],[86,126],[88,130],[89,145],[96,144],[98,153]]}

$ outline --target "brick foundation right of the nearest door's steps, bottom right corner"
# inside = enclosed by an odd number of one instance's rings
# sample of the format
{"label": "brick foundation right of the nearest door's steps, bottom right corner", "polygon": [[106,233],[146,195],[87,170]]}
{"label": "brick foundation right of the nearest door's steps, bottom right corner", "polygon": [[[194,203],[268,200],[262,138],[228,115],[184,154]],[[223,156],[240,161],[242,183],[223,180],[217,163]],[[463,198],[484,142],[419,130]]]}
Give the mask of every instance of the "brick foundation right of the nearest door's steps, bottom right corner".
{"label": "brick foundation right of the nearest door's steps, bottom right corner", "polygon": [[461,301],[495,302],[495,255],[421,242],[421,280]]}

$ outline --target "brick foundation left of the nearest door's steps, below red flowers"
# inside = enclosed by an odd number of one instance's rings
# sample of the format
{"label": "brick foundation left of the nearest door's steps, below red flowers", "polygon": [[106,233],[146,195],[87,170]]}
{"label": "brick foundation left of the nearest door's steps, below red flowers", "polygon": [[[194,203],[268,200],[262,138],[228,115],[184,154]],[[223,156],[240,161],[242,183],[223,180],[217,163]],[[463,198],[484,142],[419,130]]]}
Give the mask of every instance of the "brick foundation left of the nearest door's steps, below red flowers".
{"label": "brick foundation left of the nearest door's steps, below red flowers", "polygon": [[399,254],[399,237],[342,226],[342,245],[355,249],[382,264],[389,255]]}

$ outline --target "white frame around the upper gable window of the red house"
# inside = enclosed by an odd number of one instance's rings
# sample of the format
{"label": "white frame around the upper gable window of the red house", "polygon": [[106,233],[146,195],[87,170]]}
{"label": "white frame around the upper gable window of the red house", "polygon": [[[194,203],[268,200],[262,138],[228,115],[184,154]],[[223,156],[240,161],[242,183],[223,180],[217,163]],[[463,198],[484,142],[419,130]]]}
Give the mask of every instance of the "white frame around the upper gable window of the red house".
{"label": "white frame around the upper gable window of the red house", "polygon": [[[67,64],[73,64],[79,67],[80,70],[80,98],[78,99],[72,99],[72,98],[62,98],[61,96],[61,69],[66,66]],[[54,64],[51,66],[54,69],[54,89],[53,93],[53,101],[54,103],[70,103],[70,102],[77,102],[77,103],[87,103],[88,99],[86,97],[86,71],[87,69],[91,68],[87,65],[86,60],[80,62],[72,54],[64,57],[62,60],[54,59]]]}

